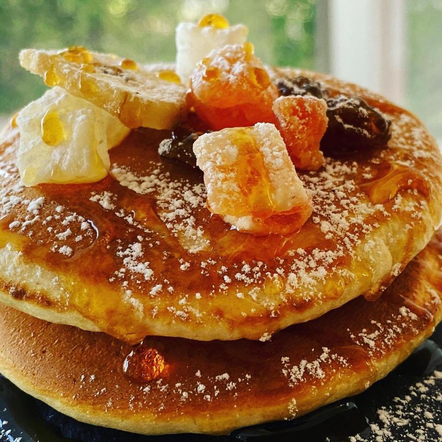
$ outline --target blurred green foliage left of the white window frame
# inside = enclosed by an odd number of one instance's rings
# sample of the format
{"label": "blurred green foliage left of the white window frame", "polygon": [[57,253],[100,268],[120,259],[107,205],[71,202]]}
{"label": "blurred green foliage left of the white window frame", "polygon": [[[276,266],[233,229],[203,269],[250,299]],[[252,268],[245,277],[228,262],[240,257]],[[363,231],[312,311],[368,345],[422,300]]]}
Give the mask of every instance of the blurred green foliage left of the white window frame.
{"label": "blurred green foliage left of the white window frame", "polygon": [[172,61],[175,27],[220,12],[244,23],[256,54],[269,64],[314,67],[314,0],[2,0],[0,114],[45,90],[22,69],[20,49],[83,45],[138,62]]}

